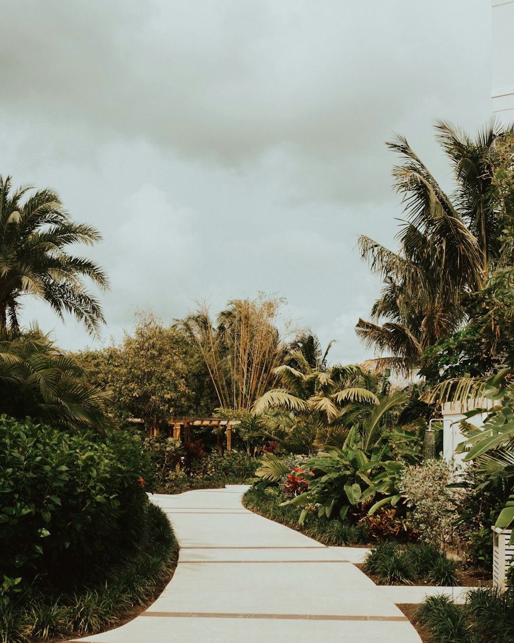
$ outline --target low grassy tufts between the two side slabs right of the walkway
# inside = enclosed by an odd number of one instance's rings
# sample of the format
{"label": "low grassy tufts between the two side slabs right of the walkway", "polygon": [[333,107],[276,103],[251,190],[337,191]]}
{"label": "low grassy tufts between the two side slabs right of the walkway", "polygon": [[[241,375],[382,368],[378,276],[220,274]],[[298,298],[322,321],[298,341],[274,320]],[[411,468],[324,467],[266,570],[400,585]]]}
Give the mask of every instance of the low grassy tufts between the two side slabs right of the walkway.
{"label": "low grassy tufts between the two side slabs right of the walkway", "polygon": [[380,543],[366,556],[364,571],[377,575],[378,582],[384,585],[457,584],[455,561],[423,543],[407,546],[395,542]]}

